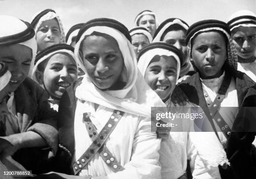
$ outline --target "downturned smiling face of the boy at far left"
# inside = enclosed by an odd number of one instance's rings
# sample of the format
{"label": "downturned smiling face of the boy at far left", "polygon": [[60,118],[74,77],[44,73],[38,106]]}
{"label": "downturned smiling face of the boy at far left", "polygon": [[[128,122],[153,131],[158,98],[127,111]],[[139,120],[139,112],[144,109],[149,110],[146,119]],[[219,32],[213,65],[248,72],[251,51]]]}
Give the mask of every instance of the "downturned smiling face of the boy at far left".
{"label": "downturned smiling face of the boy at far left", "polygon": [[0,62],[8,66],[12,73],[9,90],[15,91],[28,76],[32,60],[32,49],[25,45],[15,44],[0,48]]}

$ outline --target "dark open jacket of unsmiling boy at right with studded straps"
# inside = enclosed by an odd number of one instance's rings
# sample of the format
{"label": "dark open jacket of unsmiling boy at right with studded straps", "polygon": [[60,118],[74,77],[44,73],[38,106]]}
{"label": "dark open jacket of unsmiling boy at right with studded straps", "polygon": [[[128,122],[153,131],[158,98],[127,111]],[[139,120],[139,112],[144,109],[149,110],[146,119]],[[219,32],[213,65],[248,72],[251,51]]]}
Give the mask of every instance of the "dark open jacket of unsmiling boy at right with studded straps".
{"label": "dark open jacket of unsmiling boy at right with studded straps", "polygon": [[[241,123],[244,124],[244,121],[249,122],[251,126],[255,126],[256,128],[256,118],[251,118],[250,113],[245,111],[244,108],[241,108],[256,107],[256,83],[245,73],[228,67],[224,67],[224,69],[226,73],[229,73],[235,79],[240,111],[234,121],[233,132],[231,132],[228,139],[228,148],[226,151],[231,166],[225,170],[219,167],[220,174],[223,179],[256,178],[256,155],[253,154],[255,147],[251,144],[254,140],[255,133],[248,132],[246,129],[239,129],[239,132],[236,130],[238,129],[238,125]],[[204,94],[202,93],[200,74],[198,72],[195,73],[179,84],[179,87],[188,96],[189,101],[202,107],[207,118],[211,119]]]}

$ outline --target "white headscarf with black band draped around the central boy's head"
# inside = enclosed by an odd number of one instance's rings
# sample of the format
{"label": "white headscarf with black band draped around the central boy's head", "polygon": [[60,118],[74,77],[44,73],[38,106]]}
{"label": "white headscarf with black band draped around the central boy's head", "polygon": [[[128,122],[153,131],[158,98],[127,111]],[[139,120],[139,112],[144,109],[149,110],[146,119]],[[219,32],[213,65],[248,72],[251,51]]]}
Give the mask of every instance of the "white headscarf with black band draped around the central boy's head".
{"label": "white headscarf with black band draped around the central boy's head", "polygon": [[[79,55],[79,48],[84,37],[93,32],[108,34],[118,43],[124,60],[121,78],[122,81],[126,82],[126,85],[120,90],[102,91],[92,83],[87,75]],[[131,36],[128,29],[118,21],[97,18],[87,22],[77,35],[74,54],[86,73],[82,83],[75,91],[75,96],[78,99],[145,117],[151,116],[151,107],[165,106],[159,96],[146,84],[141,73],[138,73],[136,55],[131,45]]]}

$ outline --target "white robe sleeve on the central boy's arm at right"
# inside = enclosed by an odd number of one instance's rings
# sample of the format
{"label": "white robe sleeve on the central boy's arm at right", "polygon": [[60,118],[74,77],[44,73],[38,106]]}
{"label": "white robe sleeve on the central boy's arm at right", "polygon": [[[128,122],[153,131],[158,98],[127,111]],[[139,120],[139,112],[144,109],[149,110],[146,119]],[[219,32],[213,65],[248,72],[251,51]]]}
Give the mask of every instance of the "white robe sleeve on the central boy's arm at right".
{"label": "white robe sleeve on the central boy's arm at right", "polygon": [[131,161],[125,164],[125,170],[108,174],[109,179],[160,179],[161,167],[159,149],[161,139],[151,132],[151,118],[139,120],[134,134]]}

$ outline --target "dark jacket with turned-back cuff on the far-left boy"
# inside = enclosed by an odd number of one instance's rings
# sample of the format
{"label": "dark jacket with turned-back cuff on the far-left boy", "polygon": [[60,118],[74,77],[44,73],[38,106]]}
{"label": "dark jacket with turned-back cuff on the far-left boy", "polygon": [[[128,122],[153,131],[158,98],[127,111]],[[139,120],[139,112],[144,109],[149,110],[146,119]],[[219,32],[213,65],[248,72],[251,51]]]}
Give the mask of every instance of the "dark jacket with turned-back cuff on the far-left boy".
{"label": "dark jacket with turned-back cuff on the far-left boy", "polygon": [[49,151],[53,153],[57,151],[57,113],[50,108],[46,91],[30,78],[26,78],[14,93],[20,132],[34,131],[38,133],[46,140],[51,149],[35,147],[20,149],[14,154],[13,159],[26,169],[32,170],[33,173],[41,173],[41,169],[44,168],[41,161],[48,157]]}

